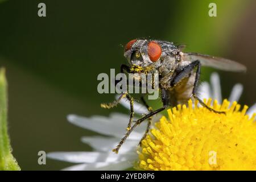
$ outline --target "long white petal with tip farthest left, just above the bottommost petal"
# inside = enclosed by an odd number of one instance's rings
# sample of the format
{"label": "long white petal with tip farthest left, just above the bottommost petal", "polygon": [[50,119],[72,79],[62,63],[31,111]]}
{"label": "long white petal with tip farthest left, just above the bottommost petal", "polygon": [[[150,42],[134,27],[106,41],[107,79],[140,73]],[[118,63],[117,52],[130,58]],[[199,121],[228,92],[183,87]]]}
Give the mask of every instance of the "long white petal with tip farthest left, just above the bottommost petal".
{"label": "long white petal with tip farthest left, just above the bottommost petal", "polygon": [[115,154],[114,152],[50,152],[48,158],[71,163],[97,163],[97,162],[117,162],[127,159],[135,159],[136,153]]}

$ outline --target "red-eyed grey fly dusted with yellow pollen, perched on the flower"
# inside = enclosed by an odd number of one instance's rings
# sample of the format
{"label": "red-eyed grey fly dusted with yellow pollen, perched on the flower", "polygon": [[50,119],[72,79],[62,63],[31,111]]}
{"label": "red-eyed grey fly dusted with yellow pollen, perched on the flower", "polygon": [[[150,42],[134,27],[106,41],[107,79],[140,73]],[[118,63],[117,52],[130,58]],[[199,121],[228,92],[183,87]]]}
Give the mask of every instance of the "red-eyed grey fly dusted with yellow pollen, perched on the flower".
{"label": "red-eyed grey fly dusted with yellow pollen, perched on the flower", "polygon": [[[177,104],[186,104],[189,98],[198,100],[201,105],[215,113],[223,113],[217,111],[204,104],[197,97],[196,91],[200,80],[201,66],[212,67],[223,71],[245,72],[246,67],[235,61],[224,59],[221,57],[213,57],[200,53],[182,52],[184,46],[175,46],[172,42],[162,40],[131,40],[125,46],[124,56],[129,65],[121,65],[122,73],[158,73],[159,74],[159,90],[163,107],[152,110],[147,105],[143,97],[141,100],[148,108],[148,113],[138,119],[133,124],[133,97],[129,93],[121,94],[118,100],[110,104],[102,104],[102,107],[110,108],[118,104],[118,102],[126,97],[130,101],[130,122],[127,127],[127,133],[121,139],[114,152],[118,153],[119,148],[129,137],[131,131],[140,123],[148,120],[147,129],[141,141],[146,137],[150,125],[151,118],[156,113],[167,109],[168,106],[176,106]],[[132,125],[133,124],[133,125]],[[140,142],[141,143],[141,142]]]}

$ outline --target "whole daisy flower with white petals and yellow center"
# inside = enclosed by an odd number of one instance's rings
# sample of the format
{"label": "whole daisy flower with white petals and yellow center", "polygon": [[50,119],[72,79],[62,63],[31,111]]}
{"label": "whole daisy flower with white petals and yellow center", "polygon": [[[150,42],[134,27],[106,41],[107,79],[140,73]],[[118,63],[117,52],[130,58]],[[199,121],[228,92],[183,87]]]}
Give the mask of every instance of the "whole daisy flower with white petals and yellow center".
{"label": "whole daisy flower with white petals and yellow center", "polygon": [[[238,101],[242,89],[241,84],[236,84],[229,101]],[[50,152],[47,156],[76,163],[64,170],[123,170],[130,167],[143,170],[253,169],[251,166],[256,166],[256,138],[253,137],[256,105],[247,111],[248,115],[245,115],[247,106],[239,111],[237,102],[229,107],[228,100],[224,100],[222,105],[218,105],[222,98],[217,73],[210,77],[210,84],[203,82],[200,85],[199,96],[208,98],[205,100],[208,105],[211,97],[216,98],[213,108],[225,110],[227,114],[216,114],[197,104],[193,107],[192,101],[188,102],[188,107],[178,105],[168,109],[168,118],[153,118],[155,126],[152,126],[141,147],[138,143],[146,123],[138,126],[118,155],[112,149],[125,134],[129,115],[113,113],[109,117],[96,115],[86,118],[71,114],[67,117],[69,122],[101,134],[81,138],[94,151]],[[130,108],[125,99],[121,100],[121,104]],[[134,110],[137,114],[147,113],[146,107],[138,102],[134,103]],[[213,163],[209,161],[211,151],[216,152]]]}

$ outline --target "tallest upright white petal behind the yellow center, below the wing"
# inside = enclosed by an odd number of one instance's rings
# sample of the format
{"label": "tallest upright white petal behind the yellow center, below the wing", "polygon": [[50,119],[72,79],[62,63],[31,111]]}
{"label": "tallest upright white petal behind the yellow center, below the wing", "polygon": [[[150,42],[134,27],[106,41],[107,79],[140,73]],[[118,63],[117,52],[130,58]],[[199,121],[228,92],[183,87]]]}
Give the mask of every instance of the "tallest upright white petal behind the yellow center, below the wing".
{"label": "tallest upright white petal behind the yellow center, below the wing", "polygon": [[212,73],[212,75],[210,76],[210,84],[212,85],[213,90],[212,99],[216,99],[218,103],[222,103],[220,76],[218,75],[218,73]]}

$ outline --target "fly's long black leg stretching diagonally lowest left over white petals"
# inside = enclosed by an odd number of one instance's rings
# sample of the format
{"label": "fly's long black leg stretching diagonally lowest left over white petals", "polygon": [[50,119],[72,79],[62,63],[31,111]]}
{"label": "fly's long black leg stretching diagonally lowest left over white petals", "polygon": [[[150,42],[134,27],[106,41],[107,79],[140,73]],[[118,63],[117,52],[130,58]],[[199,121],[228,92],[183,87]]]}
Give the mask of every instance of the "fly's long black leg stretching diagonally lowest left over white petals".
{"label": "fly's long black leg stretching diagonally lowest left over white petals", "polygon": [[141,119],[138,119],[137,121],[135,121],[134,125],[131,126],[131,129],[128,130],[125,134],[125,136],[121,139],[121,141],[118,143],[117,147],[115,147],[112,151],[115,152],[116,154],[118,154],[118,151],[120,149],[120,147],[122,146],[123,143],[125,143],[125,140],[127,139],[127,137],[129,137],[129,135],[131,134],[131,132],[135,129],[135,127],[137,127],[139,124],[141,124],[143,121],[145,121],[147,118],[152,117],[153,115],[160,113],[160,111],[163,111],[165,109],[167,109],[168,107],[168,102],[169,102],[169,97],[168,97],[168,92],[165,89],[162,89],[162,101],[163,101],[163,107],[161,107],[160,109],[154,110],[151,113],[148,113],[146,115],[144,115],[144,117],[142,117]]}

